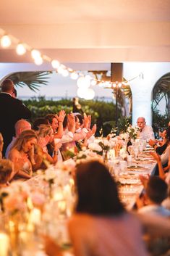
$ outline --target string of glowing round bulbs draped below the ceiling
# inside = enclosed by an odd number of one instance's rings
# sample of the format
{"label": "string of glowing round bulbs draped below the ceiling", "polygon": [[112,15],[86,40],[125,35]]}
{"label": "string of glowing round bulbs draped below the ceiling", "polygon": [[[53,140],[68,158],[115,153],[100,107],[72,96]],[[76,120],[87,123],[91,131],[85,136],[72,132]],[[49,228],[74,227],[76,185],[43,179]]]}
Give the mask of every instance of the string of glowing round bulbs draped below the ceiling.
{"label": "string of glowing round bulbs draped below the ceiling", "polygon": [[[51,59],[50,57],[46,55],[42,55],[40,51],[37,49],[33,49],[31,46],[28,46],[27,44],[21,44],[20,40],[18,38],[15,38],[12,35],[8,35],[6,31],[3,29],[0,29],[0,36],[1,36],[1,47],[7,48],[11,44],[17,44],[16,46],[16,52],[18,55],[25,54],[26,51],[30,51],[31,56],[34,59],[35,65],[41,65],[43,61],[51,62],[51,65],[54,69],[56,69],[56,72],[63,75],[64,77],[67,77],[70,73],[70,78],[77,80],[77,86],[79,87],[78,91],[79,94],[83,95],[86,91],[88,91],[91,95],[94,94],[93,89],[89,88],[91,86],[98,85],[102,88],[116,88],[118,86],[121,88],[122,86],[127,86],[128,83],[136,78],[143,79],[143,73],[140,73],[140,75],[135,76],[135,78],[129,79],[126,82],[122,83],[113,83],[111,81],[104,81],[100,79],[96,79],[95,76],[90,75],[89,73],[84,75],[82,72],[77,70],[72,70],[70,67],[66,67],[63,64],[60,64],[60,62],[57,59]],[[111,75],[110,70],[107,72],[108,75]],[[81,88],[81,90],[80,90]],[[84,93],[82,94],[82,88],[84,90]],[[90,90],[90,91],[89,91]],[[93,92],[92,92],[92,91]],[[80,92],[81,91],[81,92]],[[87,98],[87,97],[86,97]]]}

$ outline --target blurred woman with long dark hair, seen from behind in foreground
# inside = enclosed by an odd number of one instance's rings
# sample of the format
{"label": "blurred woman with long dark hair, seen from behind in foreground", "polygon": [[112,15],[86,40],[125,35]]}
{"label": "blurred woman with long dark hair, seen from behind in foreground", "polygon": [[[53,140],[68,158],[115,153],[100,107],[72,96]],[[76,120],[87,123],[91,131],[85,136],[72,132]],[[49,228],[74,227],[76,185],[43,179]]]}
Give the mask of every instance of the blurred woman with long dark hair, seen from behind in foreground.
{"label": "blurred woman with long dark hair, seen from behind in foreground", "polygon": [[[139,220],[120,202],[116,182],[100,162],[77,166],[76,212],[69,220],[69,236],[75,256],[144,256]],[[59,248],[46,240],[49,256],[62,255]]]}

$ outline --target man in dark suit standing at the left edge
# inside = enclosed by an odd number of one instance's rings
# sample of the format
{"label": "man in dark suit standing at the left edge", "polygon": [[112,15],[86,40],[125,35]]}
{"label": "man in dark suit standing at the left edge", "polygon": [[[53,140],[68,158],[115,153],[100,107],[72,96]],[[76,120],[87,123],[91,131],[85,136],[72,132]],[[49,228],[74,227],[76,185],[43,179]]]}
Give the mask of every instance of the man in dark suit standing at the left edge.
{"label": "man in dark suit standing at the left edge", "polygon": [[3,155],[14,136],[14,124],[21,118],[31,117],[30,110],[22,104],[22,101],[12,97],[14,83],[10,79],[1,84],[0,93],[0,132],[4,138]]}

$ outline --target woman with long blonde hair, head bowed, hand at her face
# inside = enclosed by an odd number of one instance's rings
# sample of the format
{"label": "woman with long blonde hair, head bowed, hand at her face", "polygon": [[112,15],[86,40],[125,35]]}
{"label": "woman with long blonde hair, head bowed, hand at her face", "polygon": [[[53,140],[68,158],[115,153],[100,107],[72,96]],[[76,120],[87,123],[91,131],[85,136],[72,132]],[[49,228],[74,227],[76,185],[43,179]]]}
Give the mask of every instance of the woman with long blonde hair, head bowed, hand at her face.
{"label": "woman with long blonde hair, head bowed, hand at her face", "polygon": [[34,146],[37,144],[35,131],[26,130],[20,133],[9,151],[9,160],[14,163],[15,177],[31,178],[33,172]]}

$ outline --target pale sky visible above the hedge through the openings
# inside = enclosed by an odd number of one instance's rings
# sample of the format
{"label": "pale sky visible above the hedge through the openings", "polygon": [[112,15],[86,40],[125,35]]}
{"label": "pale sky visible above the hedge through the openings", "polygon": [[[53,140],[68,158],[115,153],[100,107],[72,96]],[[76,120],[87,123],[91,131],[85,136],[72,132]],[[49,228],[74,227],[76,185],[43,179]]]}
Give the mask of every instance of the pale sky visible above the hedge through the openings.
{"label": "pale sky visible above the hedge through the openings", "polygon": [[[46,97],[74,97],[77,96],[77,80],[72,80],[67,77],[64,78],[62,75],[52,73],[49,75],[48,85],[42,85],[40,91],[33,92],[25,86],[24,88],[17,87],[17,97],[22,99],[23,97],[33,96],[46,96]],[[99,86],[91,86],[95,91],[95,96],[98,97],[112,97],[111,89],[104,89]]]}

